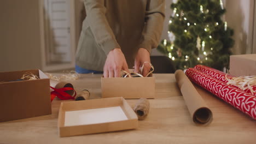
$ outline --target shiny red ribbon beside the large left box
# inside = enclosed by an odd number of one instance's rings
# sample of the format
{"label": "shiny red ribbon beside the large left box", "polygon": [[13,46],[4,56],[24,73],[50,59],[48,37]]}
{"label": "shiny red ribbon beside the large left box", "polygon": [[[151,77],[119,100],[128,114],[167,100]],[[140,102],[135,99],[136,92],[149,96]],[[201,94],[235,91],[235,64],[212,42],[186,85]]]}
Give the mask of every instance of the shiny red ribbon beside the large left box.
{"label": "shiny red ribbon beside the large left box", "polygon": [[[67,99],[74,99],[75,95],[77,95],[77,92],[75,92],[74,88],[72,87],[63,87],[63,88],[51,87],[51,88],[54,90],[51,92],[51,101],[53,101],[56,96],[61,100],[67,100]],[[65,91],[74,91],[75,94],[72,97],[72,95],[69,95]]]}

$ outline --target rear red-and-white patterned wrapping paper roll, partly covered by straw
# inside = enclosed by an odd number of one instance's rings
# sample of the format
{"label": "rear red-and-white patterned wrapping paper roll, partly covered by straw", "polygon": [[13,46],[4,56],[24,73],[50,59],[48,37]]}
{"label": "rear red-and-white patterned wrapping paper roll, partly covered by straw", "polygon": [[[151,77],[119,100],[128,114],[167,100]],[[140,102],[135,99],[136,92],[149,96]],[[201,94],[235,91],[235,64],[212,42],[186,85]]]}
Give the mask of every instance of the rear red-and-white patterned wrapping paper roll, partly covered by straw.
{"label": "rear red-and-white patterned wrapping paper roll, partly covered by straw", "polygon": [[[232,77],[234,77],[234,76],[231,76],[229,74],[223,73],[222,71],[219,71],[217,69],[206,67],[205,65],[196,65],[194,67],[194,69],[196,69],[198,71],[201,71],[204,74],[210,75],[210,76],[214,77],[215,79],[218,79],[218,80],[223,81],[225,83],[229,82],[227,79],[232,79]],[[255,91],[256,90],[256,85],[252,86],[252,89],[253,89],[253,91]],[[251,92],[251,90],[249,88],[247,88],[243,91],[245,91],[247,93],[251,93],[254,96],[256,96],[256,93]]]}

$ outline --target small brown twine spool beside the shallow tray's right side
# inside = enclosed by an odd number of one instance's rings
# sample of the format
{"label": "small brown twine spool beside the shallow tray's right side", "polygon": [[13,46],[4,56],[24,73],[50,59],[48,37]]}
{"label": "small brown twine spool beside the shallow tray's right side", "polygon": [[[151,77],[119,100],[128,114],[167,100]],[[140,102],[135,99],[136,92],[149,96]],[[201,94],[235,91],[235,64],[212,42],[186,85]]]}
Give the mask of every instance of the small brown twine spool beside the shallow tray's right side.
{"label": "small brown twine spool beside the shallow tray's right side", "polygon": [[146,98],[141,98],[137,101],[135,107],[133,108],[138,116],[139,120],[143,120],[148,116],[149,112],[149,101]]}

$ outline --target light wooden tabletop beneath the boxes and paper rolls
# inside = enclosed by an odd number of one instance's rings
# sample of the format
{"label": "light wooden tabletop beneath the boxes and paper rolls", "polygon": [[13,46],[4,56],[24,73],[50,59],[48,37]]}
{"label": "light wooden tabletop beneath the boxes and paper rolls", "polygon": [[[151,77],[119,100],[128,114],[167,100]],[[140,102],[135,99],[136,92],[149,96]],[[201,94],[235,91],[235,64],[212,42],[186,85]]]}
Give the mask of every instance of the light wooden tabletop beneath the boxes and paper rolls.
{"label": "light wooden tabletop beneath the boxes and paper rolls", "polygon": [[[150,112],[138,129],[112,133],[59,137],[57,114],[62,100],[54,100],[52,115],[0,123],[0,143],[256,143],[256,121],[224,101],[197,87],[213,112],[206,127],[196,126],[188,112],[173,74],[155,74],[156,98],[149,99]],[[101,75],[84,74],[68,81],[80,91],[89,89],[101,97]],[[135,99],[127,100],[135,105]]]}

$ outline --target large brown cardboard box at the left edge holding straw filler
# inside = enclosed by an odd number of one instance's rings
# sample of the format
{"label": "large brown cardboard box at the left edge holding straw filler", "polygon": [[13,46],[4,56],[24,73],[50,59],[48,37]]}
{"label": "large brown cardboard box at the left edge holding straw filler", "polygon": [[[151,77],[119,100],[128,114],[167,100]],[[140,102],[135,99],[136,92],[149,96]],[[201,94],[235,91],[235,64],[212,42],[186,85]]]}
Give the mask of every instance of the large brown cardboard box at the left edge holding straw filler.
{"label": "large brown cardboard box at the left edge holding straw filler", "polygon": [[[37,80],[20,80],[30,72]],[[50,80],[40,70],[0,73],[0,122],[51,114]]]}

